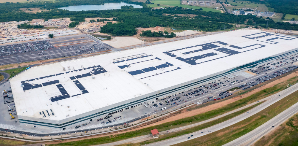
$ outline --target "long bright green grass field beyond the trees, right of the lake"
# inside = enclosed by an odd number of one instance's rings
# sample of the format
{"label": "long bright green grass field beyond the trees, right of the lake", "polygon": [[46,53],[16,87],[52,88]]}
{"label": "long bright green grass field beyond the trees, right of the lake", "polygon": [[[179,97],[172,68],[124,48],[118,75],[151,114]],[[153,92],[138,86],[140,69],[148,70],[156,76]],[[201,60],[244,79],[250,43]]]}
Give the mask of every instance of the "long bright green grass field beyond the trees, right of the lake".
{"label": "long bright green grass field beyond the trees, right of the lake", "polygon": [[[189,5],[183,5],[180,4],[179,0],[155,0],[155,1],[151,1],[154,4],[147,4],[147,6],[150,7],[183,7],[183,8],[193,8],[193,9],[200,9],[202,8],[203,11],[212,11],[212,12],[221,12],[221,10],[217,10],[217,9],[211,9],[211,8],[205,8],[205,7],[197,7],[197,6],[189,6]],[[157,4],[160,4],[159,6],[157,6]]]}

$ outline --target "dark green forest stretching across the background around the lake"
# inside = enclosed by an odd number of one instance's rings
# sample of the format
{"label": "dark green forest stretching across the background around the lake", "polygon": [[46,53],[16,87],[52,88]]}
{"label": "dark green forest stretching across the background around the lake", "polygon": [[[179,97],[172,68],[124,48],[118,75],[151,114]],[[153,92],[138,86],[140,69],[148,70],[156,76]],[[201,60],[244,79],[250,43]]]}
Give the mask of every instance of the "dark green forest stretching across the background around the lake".
{"label": "dark green forest stretching across the background around the lake", "polygon": [[[202,31],[217,31],[233,28],[230,23],[254,25],[266,27],[268,21],[269,28],[298,30],[297,24],[284,22],[275,23],[273,20],[265,20],[254,15],[233,15],[229,13],[204,12],[200,9],[184,9],[182,7],[168,7],[166,9],[152,9],[141,2],[124,2],[130,4],[143,5],[143,8],[134,9],[111,9],[111,10],[90,10],[90,11],[68,11],[58,9],[73,4],[103,4],[105,2],[118,2],[120,0],[57,0],[57,1],[38,1],[29,3],[4,3],[0,4],[0,21],[24,21],[44,18],[45,20],[53,18],[70,18],[72,21],[70,27],[75,27],[79,22],[85,21],[85,18],[113,18],[118,23],[108,23],[101,27],[102,33],[108,33],[113,36],[135,35],[137,27],[175,27],[196,29]],[[56,5],[57,4],[57,5]],[[44,7],[47,5],[47,12],[27,13],[18,10],[19,8]],[[129,7],[129,6],[128,6]],[[10,9],[11,8],[11,9]],[[126,8],[126,7],[125,7]],[[164,15],[169,14],[169,15]],[[195,17],[182,17],[177,14],[193,14]],[[172,15],[172,16],[171,16]],[[97,21],[108,21],[101,19]]]}

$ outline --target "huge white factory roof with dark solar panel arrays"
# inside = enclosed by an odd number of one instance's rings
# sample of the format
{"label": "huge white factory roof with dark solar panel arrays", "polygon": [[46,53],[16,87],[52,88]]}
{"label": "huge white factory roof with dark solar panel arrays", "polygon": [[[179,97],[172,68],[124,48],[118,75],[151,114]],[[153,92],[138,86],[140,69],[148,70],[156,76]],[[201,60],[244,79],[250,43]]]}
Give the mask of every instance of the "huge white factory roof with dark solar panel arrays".
{"label": "huge white factory roof with dark solar panel arrays", "polygon": [[18,115],[42,118],[52,109],[45,119],[61,120],[295,49],[297,40],[232,31],[37,66],[10,84]]}

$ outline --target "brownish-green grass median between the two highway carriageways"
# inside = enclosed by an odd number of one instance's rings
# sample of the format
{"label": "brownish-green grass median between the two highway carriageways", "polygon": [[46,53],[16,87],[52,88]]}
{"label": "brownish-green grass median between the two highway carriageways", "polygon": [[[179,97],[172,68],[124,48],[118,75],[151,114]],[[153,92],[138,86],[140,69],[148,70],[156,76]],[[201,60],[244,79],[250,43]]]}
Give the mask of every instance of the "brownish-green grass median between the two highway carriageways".
{"label": "brownish-green grass median between the two highway carriageways", "polygon": [[[233,124],[229,127],[223,128],[219,131],[198,137],[186,142],[181,142],[174,146],[185,146],[185,145],[212,145],[212,146],[221,146],[228,142],[231,142],[238,137],[241,137],[255,128],[266,123],[271,118],[283,112],[285,109],[288,109],[292,105],[298,102],[298,91],[292,93],[291,95],[277,101],[266,109],[258,112],[257,114],[246,118],[236,124]],[[233,131],[231,129],[233,127]],[[296,131],[297,133],[297,131]],[[296,136],[297,137],[297,134]],[[297,139],[295,140],[297,142]],[[294,145],[293,145],[294,146]]]}

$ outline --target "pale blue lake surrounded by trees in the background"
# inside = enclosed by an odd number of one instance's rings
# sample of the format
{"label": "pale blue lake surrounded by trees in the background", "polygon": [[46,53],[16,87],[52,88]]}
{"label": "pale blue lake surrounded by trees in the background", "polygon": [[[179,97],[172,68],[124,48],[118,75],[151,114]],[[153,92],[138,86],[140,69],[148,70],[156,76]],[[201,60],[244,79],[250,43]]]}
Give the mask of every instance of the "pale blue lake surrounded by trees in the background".
{"label": "pale blue lake surrounded by trees in the background", "polygon": [[104,10],[104,9],[121,9],[121,6],[134,6],[134,8],[142,8],[142,6],[135,4],[120,3],[105,3],[104,5],[78,5],[61,7],[59,9],[66,9],[69,11],[88,11],[88,10]]}

